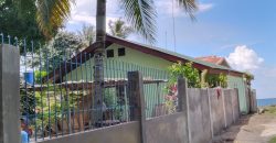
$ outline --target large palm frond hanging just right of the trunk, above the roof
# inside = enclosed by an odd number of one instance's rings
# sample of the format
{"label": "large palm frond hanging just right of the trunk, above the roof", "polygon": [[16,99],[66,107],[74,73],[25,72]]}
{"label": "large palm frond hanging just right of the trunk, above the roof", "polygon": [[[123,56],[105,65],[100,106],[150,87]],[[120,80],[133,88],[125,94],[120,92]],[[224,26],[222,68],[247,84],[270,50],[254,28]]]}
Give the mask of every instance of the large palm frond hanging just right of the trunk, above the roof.
{"label": "large palm frond hanging just right of the trunk, above the roof", "polygon": [[120,0],[127,21],[149,43],[156,42],[157,12],[152,0]]}

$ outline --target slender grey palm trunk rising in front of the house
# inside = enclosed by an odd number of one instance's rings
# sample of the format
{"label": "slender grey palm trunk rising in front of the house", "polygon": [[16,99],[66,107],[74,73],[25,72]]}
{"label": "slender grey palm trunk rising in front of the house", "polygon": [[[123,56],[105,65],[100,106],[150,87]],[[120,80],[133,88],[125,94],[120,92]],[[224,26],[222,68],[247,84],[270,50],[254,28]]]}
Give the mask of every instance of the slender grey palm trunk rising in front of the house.
{"label": "slender grey palm trunk rising in front of the house", "polygon": [[106,40],[106,0],[97,0],[96,13],[96,45],[94,55],[94,121],[102,124],[103,121],[103,96],[104,96],[104,58]]}

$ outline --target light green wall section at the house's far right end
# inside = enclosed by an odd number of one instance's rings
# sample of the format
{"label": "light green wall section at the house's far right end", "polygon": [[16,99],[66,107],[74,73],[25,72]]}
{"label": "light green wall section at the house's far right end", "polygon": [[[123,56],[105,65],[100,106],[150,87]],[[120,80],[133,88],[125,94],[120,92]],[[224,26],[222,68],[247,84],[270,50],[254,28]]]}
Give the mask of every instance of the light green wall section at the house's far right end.
{"label": "light green wall section at the house's far right end", "polygon": [[229,88],[238,89],[238,100],[240,100],[240,110],[243,113],[248,113],[248,107],[246,103],[246,87],[242,77],[227,76],[229,78]]}

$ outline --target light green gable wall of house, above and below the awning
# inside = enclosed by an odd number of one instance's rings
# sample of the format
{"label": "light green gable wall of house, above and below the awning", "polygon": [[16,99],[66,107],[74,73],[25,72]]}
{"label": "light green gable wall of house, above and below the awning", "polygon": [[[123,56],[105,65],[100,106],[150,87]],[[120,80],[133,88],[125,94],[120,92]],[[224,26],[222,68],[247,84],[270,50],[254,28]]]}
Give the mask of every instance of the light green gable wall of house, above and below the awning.
{"label": "light green gable wall of house, above and below the awning", "polygon": [[[118,48],[121,46],[113,44],[107,50],[114,50],[114,57],[105,59],[105,80],[126,79],[127,72],[139,70],[144,79],[168,79],[167,68],[172,64],[166,59],[151,56],[139,51],[125,48],[126,55],[118,56]],[[88,56],[86,55],[88,58]],[[74,63],[74,62],[73,62]],[[92,81],[93,80],[93,58],[64,76],[65,80]],[[167,84],[144,85],[146,96],[146,116],[151,118],[156,106],[164,102],[167,95],[164,88]],[[126,87],[125,87],[126,88]],[[108,89],[108,90],[114,90]],[[116,96],[116,92],[109,92]]]}

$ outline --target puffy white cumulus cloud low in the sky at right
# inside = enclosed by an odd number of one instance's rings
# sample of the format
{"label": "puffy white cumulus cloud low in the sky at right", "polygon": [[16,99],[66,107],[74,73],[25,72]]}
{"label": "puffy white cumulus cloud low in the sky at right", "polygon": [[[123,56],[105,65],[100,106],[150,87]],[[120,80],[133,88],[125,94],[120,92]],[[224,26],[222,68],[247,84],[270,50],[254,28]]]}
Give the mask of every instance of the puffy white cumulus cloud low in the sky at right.
{"label": "puffy white cumulus cloud low in the sky at right", "polygon": [[238,70],[255,70],[264,62],[257,53],[246,45],[236,46],[235,51],[227,57],[230,65]]}

